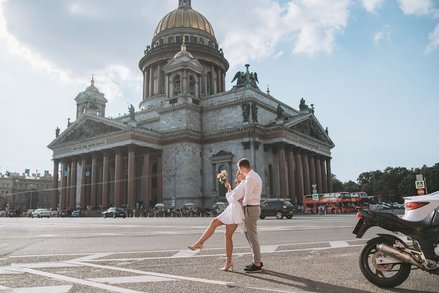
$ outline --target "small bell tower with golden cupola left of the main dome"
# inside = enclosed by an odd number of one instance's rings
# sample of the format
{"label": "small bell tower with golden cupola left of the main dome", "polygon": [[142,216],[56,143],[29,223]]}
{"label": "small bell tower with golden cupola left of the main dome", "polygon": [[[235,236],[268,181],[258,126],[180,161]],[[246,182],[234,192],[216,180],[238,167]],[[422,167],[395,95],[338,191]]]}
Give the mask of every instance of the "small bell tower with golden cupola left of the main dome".
{"label": "small bell tower with golden cupola left of the main dome", "polygon": [[92,75],[90,85],[76,96],[76,119],[85,112],[105,117],[105,104],[108,101],[94,84],[95,81]]}

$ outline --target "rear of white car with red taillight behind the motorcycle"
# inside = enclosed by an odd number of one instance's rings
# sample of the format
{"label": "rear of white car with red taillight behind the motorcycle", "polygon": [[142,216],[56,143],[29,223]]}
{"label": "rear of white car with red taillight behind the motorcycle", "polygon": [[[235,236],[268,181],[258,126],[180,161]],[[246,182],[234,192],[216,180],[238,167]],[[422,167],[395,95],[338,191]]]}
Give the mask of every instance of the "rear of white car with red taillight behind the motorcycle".
{"label": "rear of white car with red taillight behind the motorcycle", "polygon": [[407,221],[420,221],[433,209],[439,207],[439,191],[428,195],[404,197],[405,213],[402,216]]}

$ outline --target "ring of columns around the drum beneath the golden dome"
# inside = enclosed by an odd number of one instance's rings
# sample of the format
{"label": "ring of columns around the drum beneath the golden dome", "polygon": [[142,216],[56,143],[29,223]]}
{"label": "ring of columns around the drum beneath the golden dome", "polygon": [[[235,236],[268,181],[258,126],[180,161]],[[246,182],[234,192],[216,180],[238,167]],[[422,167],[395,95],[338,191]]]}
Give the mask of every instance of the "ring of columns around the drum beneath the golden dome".
{"label": "ring of columns around the drum beneath the golden dome", "polygon": [[[216,64],[204,64],[208,69],[200,75],[193,76],[190,79],[188,70],[177,73],[165,73],[164,67],[166,63],[150,64],[143,70],[143,100],[155,95],[166,94],[166,96],[174,97],[176,89],[173,86],[175,77],[180,77],[179,94],[194,94],[195,97],[201,98],[202,94],[213,95],[226,91],[226,72],[224,68]],[[193,85],[191,85],[193,83]],[[193,91],[193,92],[192,92]]]}

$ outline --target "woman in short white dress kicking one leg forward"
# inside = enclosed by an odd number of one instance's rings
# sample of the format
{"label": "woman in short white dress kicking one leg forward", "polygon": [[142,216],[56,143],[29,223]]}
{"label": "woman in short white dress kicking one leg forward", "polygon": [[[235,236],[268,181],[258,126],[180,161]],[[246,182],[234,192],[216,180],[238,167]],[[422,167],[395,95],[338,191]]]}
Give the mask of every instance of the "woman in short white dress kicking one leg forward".
{"label": "woman in short white dress kicking one leg forward", "polygon": [[198,240],[194,245],[188,246],[190,250],[194,251],[199,249],[201,251],[203,249],[203,243],[208,240],[210,236],[212,236],[216,227],[226,225],[226,265],[224,268],[220,269],[222,271],[228,271],[230,268],[233,270],[233,261],[231,260],[233,242],[231,237],[238,226],[241,229],[244,229],[245,227],[244,210],[241,202],[239,201],[244,197],[244,183],[242,183],[242,181],[245,179],[246,177],[238,170],[236,173],[235,188],[233,190],[231,190],[229,182],[226,181],[224,183],[224,186],[229,189],[229,192],[226,193],[229,206],[219,216],[212,220],[209,228],[204,232],[200,240]]}

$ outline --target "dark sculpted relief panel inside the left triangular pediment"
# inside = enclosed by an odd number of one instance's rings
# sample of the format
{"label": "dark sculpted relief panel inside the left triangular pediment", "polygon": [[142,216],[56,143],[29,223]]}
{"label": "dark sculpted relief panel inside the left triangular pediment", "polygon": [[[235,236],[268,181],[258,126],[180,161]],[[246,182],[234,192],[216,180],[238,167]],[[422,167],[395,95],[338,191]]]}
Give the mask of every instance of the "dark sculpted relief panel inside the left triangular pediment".
{"label": "dark sculpted relief panel inside the left triangular pediment", "polygon": [[60,144],[76,142],[119,130],[121,130],[121,128],[106,125],[102,122],[87,120],[84,124],[81,124],[77,128],[72,129],[69,133],[67,133],[63,140],[60,141]]}

